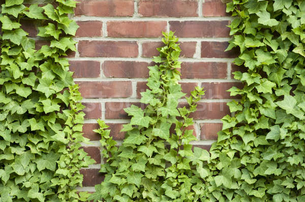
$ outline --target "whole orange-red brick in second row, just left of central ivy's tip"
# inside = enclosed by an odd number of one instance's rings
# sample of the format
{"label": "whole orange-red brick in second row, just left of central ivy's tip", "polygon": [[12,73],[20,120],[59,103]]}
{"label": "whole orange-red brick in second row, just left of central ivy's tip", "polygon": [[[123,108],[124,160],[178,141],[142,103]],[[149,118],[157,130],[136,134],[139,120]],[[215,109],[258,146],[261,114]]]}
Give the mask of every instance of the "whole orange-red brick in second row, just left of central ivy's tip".
{"label": "whole orange-red brick in second row, just left of central ivy's tip", "polygon": [[108,37],[161,37],[166,21],[110,21]]}

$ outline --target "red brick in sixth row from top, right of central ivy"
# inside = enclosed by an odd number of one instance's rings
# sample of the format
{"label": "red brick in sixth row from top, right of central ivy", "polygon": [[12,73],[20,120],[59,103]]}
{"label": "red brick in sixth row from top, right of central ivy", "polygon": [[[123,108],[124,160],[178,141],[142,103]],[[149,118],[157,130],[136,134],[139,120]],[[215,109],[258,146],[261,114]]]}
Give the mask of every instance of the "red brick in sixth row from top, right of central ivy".
{"label": "red brick in sixth row from top, right of central ivy", "polygon": [[[222,119],[225,115],[230,114],[227,103],[197,103],[197,111],[190,117],[194,119]],[[186,103],[179,104],[179,107],[188,106]]]}

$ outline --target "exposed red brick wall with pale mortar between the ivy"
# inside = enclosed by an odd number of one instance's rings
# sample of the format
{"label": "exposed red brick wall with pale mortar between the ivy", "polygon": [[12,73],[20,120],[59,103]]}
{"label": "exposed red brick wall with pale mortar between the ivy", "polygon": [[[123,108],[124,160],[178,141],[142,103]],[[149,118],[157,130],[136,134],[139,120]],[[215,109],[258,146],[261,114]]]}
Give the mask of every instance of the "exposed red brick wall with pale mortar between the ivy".
{"label": "exposed red brick wall with pale mortar between the ivy", "polygon": [[[232,79],[237,51],[224,52],[228,45],[232,17],[220,0],[101,0],[79,1],[74,20],[80,28],[75,40],[78,53],[71,53],[70,68],[80,85],[86,106],[84,136],[92,145],[84,149],[97,164],[83,169],[83,188],[94,191],[103,180],[98,173],[101,156],[96,119],[110,126],[118,143],[124,139],[121,125],[129,122],[124,108],[140,105],[146,88],[147,65],[161,46],[162,31],[175,31],[180,38],[182,89],[204,86],[205,96],[192,116],[196,120],[193,144],[209,149],[222,127],[220,119],[229,113],[226,103],[236,97],[226,92],[240,86]],[[183,103],[181,103],[183,105]]]}

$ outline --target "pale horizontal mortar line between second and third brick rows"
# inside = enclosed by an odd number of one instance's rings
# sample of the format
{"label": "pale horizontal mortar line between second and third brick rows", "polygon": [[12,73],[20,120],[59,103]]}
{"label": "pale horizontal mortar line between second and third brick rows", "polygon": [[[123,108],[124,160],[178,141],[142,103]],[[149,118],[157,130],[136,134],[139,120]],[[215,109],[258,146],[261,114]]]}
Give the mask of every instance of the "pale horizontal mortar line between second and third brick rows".
{"label": "pale horizontal mortar line between second and third brick rows", "polygon": [[[104,26],[103,26],[104,27]],[[169,31],[169,29],[168,29]],[[106,34],[106,33],[105,33]],[[104,31],[103,31],[104,35]],[[156,38],[135,38],[135,37],[75,37],[73,38],[75,41],[137,41],[137,42],[161,42],[161,37]],[[208,38],[208,37],[186,37],[179,38],[179,42],[228,42],[231,38],[228,37],[216,37],[216,38]]]}

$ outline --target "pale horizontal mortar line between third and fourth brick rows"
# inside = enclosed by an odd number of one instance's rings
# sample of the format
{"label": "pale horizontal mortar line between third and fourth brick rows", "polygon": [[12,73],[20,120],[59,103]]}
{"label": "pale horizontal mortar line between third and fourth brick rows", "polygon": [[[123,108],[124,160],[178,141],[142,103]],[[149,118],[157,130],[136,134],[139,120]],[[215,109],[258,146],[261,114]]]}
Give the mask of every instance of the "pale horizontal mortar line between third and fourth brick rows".
{"label": "pale horizontal mortar line between third and fourth brick rows", "polygon": [[[71,57],[69,60],[96,60],[96,61],[140,61],[140,62],[151,62],[151,58],[141,57],[141,58],[131,58],[131,57]],[[179,61],[181,62],[232,62],[234,59],[232,58],[181,58]]]}

